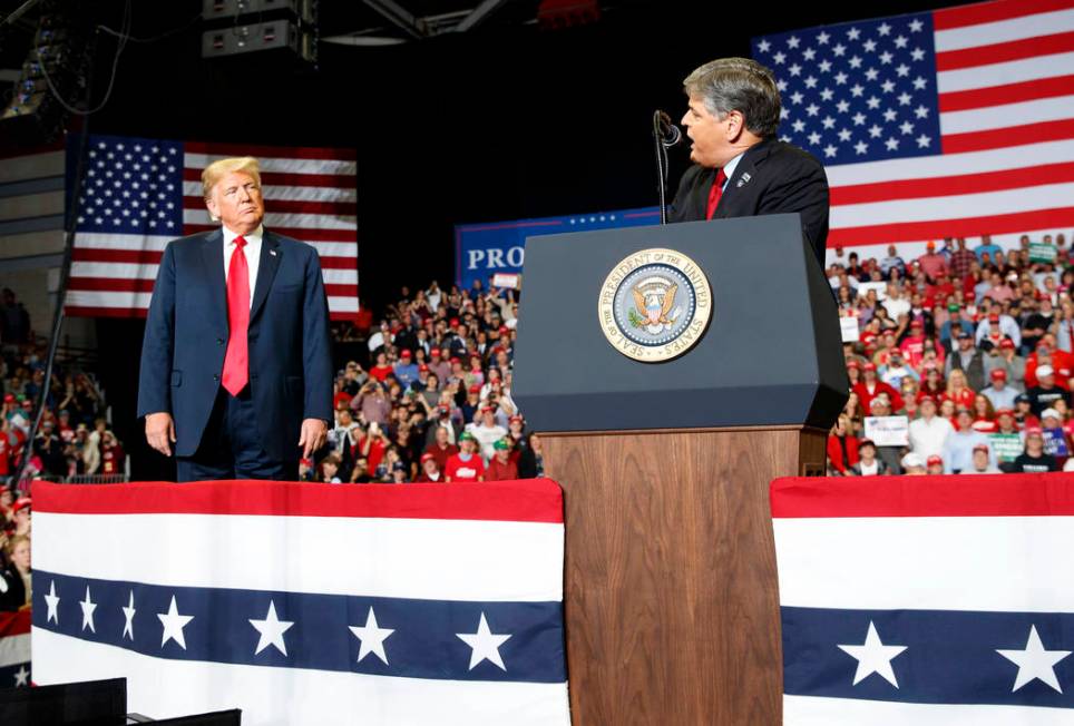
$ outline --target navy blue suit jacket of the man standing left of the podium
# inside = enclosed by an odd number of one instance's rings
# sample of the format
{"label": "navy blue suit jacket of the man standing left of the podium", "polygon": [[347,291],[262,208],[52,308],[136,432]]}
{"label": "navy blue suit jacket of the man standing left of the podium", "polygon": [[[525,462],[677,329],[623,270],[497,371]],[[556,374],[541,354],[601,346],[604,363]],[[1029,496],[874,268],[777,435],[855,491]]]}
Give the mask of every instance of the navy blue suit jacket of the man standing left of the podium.
{"label": "navy blue suit jacket of the man standing left of the podium", "polygon": [[[224,234],[168,244],[141,346],[138,415],[175,420],[175,453],[193,455],[213,411],[227,349]],[[316,251],[264,232],[250,311],[250,389],[273,461],[300,455],[303,419],[332,421],[328,298]]]}

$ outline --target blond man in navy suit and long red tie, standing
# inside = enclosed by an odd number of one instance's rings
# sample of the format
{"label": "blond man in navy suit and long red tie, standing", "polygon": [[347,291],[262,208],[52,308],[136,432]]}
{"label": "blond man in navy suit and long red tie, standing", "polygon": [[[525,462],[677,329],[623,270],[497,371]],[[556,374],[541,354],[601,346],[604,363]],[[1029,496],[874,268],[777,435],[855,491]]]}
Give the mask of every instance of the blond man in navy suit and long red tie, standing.
{"label": "blond man in navy suit and long red tie, standing", "polygon": [[332,420],[316,251],[264,228],[257,160],[202,174],[219,229],[168,244],[141,350],[138,415],[178,481],[296,480]]}

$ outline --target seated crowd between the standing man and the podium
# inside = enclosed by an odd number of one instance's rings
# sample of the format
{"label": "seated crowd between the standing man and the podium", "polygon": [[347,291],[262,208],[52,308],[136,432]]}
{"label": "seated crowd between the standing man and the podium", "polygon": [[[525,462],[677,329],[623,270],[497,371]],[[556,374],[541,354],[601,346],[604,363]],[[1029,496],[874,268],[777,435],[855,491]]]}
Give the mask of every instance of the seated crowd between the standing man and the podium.
{"label": "seated crowd between the standing man and the podium", "polygon": [[336,374],[329,443],[300,475],[334,483],[480,482],[539,477],[540,438],[511,399],[514,290],[400,298],[368,339],[369,361]]}

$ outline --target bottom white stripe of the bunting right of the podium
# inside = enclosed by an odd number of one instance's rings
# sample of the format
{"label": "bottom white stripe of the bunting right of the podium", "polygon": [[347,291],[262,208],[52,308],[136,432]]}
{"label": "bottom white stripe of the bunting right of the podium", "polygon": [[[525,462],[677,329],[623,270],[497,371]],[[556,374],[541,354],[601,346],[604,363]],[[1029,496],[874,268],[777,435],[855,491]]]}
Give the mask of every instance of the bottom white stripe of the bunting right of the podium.
{"label": "bottom white stripe of the bunting right of the podium", "polygon": [[908,704],[858,698],[822,696],[783,696],[783,723],[787,726],[832,726],[832,724],[868,724],[869,726],[1070,726],[1071,714],[1046,706],[999,706],[976,704]]}

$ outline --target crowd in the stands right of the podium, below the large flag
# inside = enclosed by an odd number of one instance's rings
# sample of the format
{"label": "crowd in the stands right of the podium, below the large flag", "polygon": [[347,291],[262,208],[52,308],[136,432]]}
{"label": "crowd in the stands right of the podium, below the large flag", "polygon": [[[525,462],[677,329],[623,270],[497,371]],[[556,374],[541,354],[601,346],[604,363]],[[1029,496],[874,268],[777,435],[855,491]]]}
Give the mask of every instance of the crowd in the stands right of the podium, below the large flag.
{"label": "crowd in the stands right of the podium, below the large flag", "polygon": [[[924,255],[836,251],[850,396],[831,475],[1074,471],[1074,255],[1063,234]],[[853,322],[850,322],[850,321]]]}

